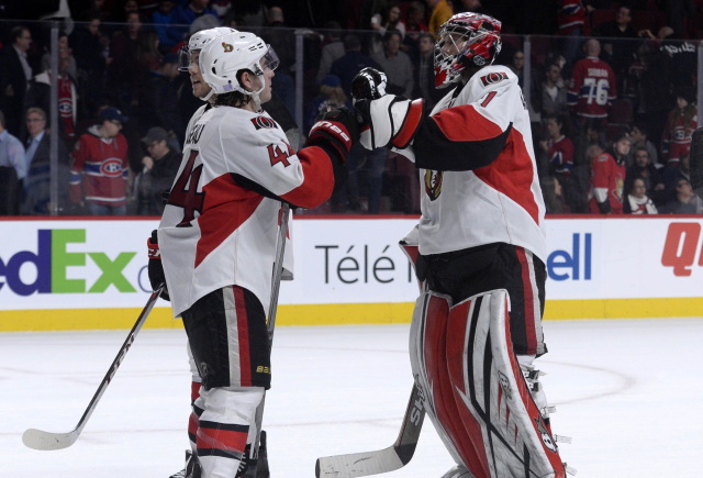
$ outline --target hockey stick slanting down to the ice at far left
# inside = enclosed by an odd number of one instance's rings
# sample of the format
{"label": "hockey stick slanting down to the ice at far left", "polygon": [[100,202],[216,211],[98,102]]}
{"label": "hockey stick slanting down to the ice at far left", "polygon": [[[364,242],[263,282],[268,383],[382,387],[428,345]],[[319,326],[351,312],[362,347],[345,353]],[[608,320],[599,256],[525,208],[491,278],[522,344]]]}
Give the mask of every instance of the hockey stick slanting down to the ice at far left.
{"label": "hockey stick slanting down to the ice at far left", "polygon": [[142,329],[142,325],[144,325],[144,322],[146,321],[146,318],[149,315],[149,312],[152,312],[152,309],[156,303],[156,299],[158,299],[159,294],[161,293],[161,290],[164,290],[163,285],[159,286],[154,292],[152,292],[152,296],[149,296],[149,300],[146,302],[146,305],[144,305],[144,309],[142,310],[140,318],[136,320],[136,323],[130,331],[130,334],[127,335],[127,338],[124,341],[124,344],[122,344],[122,347],[120,347],[120,352],[118,352],[118,356],[114,357],[114,360],[112,362],[112,365],[108,369],[105,377],[102,379],[100,387],[98,387],[96,394],[92,397],[92,400],[90,400],[88,408],[86,409],[86,411],[83,412],[83,415],[78,421],[78,424],[76,425],[76,427],[68,433],[52,433],[52,432],[44,432],[42,430],[36,430],[36,429],[29,429],[22,435],[22,442],[26,446],[34,449],[48,451],[48,449],[67,448],[74,443],[76,443],[76,440],[78,440],[80,432],[82,432],[83,427],[86,426],[86,423],[88,423],[88,419],[90,419],[90,415],[96,410],[96,407],[98,405],[98,401],[102,397],[102,393],[104,393],[105,389],[110,385],[110,381],[112,381],[112,377],[114,377],[114,374],[118,371],[118,368],[120,367],[120,364],[124,359],[124,356],[126,355],[127,351],[134,343],[134,338],[136,337],[136,334]]}

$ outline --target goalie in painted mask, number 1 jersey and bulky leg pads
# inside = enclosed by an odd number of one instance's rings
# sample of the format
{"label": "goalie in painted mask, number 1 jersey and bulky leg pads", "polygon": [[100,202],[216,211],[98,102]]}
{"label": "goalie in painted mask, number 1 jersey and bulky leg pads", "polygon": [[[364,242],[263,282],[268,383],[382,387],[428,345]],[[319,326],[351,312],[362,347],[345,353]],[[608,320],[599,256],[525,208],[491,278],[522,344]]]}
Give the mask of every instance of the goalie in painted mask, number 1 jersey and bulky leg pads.
{"label": "goalie in painted mask, number 1 jersey and bulky leg pads", "polygon": [[413,315],[411,364],[457,463],[445,476],[563,477],[532,366],[547,352],[545,204],[517,77],[491,66],[500,31],[477,13],[442,25],[435,85],[453,88],[431,112],[422,99],[384,95],[369,68],[353,96],[361,144],[390,146],[420,169],[422,216],[401,244],[419,244],[426,289]]}

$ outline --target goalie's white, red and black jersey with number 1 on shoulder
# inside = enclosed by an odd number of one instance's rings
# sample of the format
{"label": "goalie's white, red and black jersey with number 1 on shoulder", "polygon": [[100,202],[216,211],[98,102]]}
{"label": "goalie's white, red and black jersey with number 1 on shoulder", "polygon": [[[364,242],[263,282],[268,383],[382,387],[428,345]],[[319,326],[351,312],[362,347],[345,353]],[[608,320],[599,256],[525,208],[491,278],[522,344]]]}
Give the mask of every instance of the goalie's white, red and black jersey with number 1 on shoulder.
{"label": "goalie's white, red and black jersey with number 1 on shoulder", "polygon": [[502,242],[546,259],[529,115],[509,68],[482,68],[445,96],[412,148],[423,189],[422,254]]}

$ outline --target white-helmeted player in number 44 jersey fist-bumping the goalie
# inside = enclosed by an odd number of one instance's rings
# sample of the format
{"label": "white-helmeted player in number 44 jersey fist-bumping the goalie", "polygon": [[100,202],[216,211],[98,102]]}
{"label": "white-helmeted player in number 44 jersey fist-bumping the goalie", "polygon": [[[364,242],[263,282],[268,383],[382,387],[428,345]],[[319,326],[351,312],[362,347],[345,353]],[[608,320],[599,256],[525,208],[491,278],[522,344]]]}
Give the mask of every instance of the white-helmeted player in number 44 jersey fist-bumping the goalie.
{"label": "white-helmeted player in number 44 jersey fist-bumping the goalie", "polygon": [[190,55],[190,73],[193,92],[212,107],[188,127],[158,244],[150,244],[149,279],[165,278],[202,379],[194,405],[202,476],[232,478],[246,474],[255,412],[270,386],[265,311],[280,203],[314,208],[330,198],[356,123],[344,110],[325,113],[295,154],[261,110],[276,53],[236,31],[204,43]]}

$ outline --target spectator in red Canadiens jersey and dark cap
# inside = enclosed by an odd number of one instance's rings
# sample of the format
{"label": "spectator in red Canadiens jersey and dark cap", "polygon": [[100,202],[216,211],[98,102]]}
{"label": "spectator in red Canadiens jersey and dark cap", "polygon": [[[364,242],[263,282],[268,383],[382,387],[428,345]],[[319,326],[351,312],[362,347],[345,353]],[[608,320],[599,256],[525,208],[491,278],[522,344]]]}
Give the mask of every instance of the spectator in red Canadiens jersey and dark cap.
{"label": "spectator in red Canadiens jersey and dark cap", "polygon": [[129,147],[120,131],[127,121],[116,108],[103,108],[71,153],[70,201],[92,215],[126,213]]}

